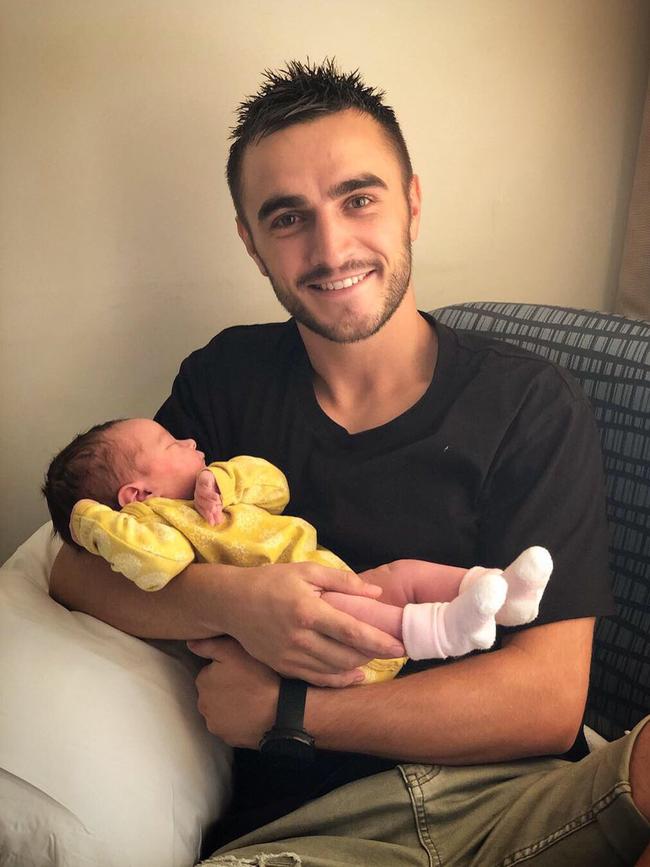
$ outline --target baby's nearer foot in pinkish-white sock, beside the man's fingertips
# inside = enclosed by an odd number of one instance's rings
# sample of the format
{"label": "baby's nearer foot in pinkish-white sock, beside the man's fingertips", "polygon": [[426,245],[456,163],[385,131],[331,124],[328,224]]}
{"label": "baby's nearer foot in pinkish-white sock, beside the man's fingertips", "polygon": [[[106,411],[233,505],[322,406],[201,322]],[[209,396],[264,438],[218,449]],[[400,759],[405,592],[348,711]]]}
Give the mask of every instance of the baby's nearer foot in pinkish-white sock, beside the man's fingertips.
{"label": "baby's nearer foot in pinkish-white sock, beside the man's fingertips", "polygon": [[495,614],[508,585],[497,569],[482,569],[451,602],[406,605],[402,641],[412,659],[445,659],[494,644]]}

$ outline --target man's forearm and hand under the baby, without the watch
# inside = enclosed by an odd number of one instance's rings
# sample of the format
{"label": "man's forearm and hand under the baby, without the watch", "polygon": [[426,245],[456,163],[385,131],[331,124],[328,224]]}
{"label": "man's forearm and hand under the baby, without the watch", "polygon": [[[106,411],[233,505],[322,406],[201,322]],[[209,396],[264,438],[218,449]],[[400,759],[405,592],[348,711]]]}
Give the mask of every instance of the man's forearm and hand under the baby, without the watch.
{"label": "man's forearm and hand under the baby, without the watch", "polygon": [[375,597],[379,588],[351,572],[315,563],[242,569],[196,563],[155,593],[139,590],[100,557],[64,545],[52,569],[50,595],[142,638],[231,635],[282,674],[340,686],[357,666],[402,647],[378,629],[336,611],[323,590]]}

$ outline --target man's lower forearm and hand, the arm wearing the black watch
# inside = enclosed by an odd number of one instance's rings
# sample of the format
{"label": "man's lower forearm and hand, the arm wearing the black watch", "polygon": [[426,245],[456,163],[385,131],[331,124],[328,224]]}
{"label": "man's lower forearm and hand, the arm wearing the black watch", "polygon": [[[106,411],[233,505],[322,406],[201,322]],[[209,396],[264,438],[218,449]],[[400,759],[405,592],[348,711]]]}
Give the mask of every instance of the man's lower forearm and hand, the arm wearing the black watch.
{"label": "man's lower forearm and hand, the arm wearing the black watch", "polygon": [[[582,721],[593,625],[584,618],[534,627],[500,650],[387,683],[310,688],[305,728],[320,748],[401,761],[474,764],[564,752]],[[208,728],[255,748],[274,719],[277,676],[227,639],[196,649],[227,663],[197,679]]]}

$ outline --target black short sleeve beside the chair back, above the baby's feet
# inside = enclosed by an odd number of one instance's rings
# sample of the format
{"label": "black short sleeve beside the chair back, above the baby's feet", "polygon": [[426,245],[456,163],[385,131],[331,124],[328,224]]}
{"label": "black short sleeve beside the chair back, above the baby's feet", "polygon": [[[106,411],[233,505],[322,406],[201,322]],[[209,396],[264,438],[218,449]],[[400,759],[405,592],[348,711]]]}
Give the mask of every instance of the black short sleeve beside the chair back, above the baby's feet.
{"label": "black short sleeve beside the chair back, above the baby's feet", "polygon": [[482,564],[531,545],[554,561],[535,624],[613,612],[600,438],[578,385],[552,367],[522,401],[481,504]]}

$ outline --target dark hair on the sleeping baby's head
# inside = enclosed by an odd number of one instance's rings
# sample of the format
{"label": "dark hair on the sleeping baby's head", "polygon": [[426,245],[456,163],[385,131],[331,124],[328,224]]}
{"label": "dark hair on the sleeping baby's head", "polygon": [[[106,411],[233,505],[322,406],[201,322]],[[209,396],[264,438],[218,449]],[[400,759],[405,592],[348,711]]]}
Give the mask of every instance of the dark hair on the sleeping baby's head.
{"label": "dark hair on the sleeping baby's head", "polygon": [[[96,424],[76,436],[52,460],[41,488],[52,517],[54,532],[74,548],[80,546],[70,534],[70,516],[78,500],[97,500],[119,509],[117,494],[125,483],[123,474],[135,463],[135,455],[119,455],[107,431],[125,419]],[[131,467],[129,466],[131,465]]]}

